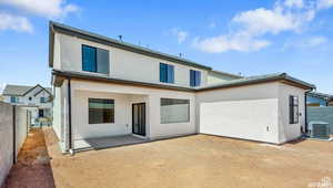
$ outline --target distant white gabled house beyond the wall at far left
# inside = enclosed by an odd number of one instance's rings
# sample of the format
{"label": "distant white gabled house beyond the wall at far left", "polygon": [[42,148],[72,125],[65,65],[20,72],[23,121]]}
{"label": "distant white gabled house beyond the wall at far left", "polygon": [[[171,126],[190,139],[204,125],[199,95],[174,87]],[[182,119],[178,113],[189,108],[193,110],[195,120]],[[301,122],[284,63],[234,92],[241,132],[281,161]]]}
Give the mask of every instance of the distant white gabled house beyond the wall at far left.
{"label": "distant white gabled house beyond the wall at far left", "polygon": [[3,102],[12,105],[27,106],[31,112],[31,124],[38,124],[41,118],[52,117],[52,90],[39,84],[6,85]]}

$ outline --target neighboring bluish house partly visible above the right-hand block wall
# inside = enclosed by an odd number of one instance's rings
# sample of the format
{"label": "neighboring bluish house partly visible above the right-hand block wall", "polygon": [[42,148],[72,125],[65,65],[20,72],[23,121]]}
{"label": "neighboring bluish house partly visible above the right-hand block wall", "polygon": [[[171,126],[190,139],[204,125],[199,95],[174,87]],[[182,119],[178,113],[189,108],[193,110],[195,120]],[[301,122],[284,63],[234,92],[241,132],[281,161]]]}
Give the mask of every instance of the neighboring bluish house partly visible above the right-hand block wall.
{"label": "neighboring bluish house partly visible above the right-hand block wall", "polygon": [[329,106],[333,101],[333,95],[310,92],[306,94],[306,105],[307,106]]}

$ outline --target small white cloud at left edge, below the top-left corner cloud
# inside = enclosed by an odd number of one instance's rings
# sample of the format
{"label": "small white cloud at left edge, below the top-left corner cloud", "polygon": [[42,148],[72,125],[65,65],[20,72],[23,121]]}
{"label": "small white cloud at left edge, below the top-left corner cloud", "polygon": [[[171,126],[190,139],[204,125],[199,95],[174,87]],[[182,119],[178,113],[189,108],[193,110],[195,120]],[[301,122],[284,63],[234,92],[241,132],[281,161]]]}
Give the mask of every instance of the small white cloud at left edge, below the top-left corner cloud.
{"label": "small white cloud at left edge, below the top-left corner cloud", "polygon": [[0,30],[14,30],[19,32],[32,32],[32,25],[24,17],[9,13],[0,13]]}

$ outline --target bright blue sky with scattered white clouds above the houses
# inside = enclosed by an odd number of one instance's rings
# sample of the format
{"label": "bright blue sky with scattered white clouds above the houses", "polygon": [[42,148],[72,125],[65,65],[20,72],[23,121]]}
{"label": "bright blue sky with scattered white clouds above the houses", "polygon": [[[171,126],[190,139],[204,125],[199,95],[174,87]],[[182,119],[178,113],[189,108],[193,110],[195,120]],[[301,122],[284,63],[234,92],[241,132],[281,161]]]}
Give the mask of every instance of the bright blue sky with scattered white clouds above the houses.
{"label": "bright blue sky with scattered white clouds above the houses", "polygon": [[0,92],[50,86],[50,20],[218,71],[286,72],[333,94],[333,0],[0,0]]}

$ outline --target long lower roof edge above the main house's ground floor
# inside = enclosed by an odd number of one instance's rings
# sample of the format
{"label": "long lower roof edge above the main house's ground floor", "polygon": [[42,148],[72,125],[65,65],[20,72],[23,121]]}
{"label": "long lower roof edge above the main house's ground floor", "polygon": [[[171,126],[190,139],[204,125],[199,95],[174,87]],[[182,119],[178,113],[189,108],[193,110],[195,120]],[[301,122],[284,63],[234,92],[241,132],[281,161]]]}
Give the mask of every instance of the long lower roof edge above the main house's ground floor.
{"label": "long lower roof edge above the main house's ground floor", "polygon": [[[138,81],[128,81],[128,80],[119,80],[119,79],[111,79],[107,76],[93,75],[89,73],[82,72],[72,72],[72,71],[60,71],[53,70],[52,74],[56,76],[60,76],[61,79],[79,79],[85,81],[99,81],[99,82],[109,82],[109,83],[118,83],[118,84],[131,84],[131,85],[139,85],[139,86],[148,86],[148,87],[155,87],[155,88],[165,88],[165,90],[178,90],[178,91],[185,91],[185,92],[201,92],[208,90],[215,90],[215,88],[226,88],[226,87],[235,87],[235,86],[243,86],[243,85],[251,85],[251,84],[260,84],[266,82],[285,82],[290,85],[311,90],[315,88],[315,85],[300,81],[294,79],[286,73],[275,73],[275,74],[266,74],[260,76],[251,76],[251,77],[243,77],[232,81],[226,81],[220,84],[208,85],[203,87],[182,87],[182,86],[173,86],[173,85],[164,85],[164,84],[154,84],[154,83],[145,83],[145,82],[138,82]],[[61,83],[62,81],[60,81]],[[57,79],[53,80],[53,83],[58,85]]]}

